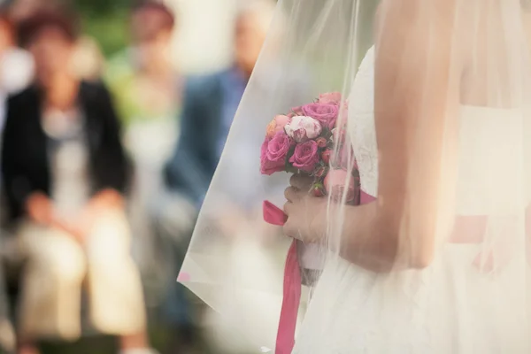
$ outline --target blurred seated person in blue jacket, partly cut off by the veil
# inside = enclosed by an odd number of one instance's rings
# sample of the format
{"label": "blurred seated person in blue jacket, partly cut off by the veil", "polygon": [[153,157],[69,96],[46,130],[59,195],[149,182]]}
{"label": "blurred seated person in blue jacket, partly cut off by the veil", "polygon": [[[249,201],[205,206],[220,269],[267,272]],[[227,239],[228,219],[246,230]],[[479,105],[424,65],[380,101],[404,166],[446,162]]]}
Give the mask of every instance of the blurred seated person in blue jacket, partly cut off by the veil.
{"label": "blurred seated person in blue jacket, partly cut off by the veil", "polygon": [[181,112],[181,138],[166,165],[169,189],[187,196],[198,210],[227,141],[262,45],[274,4],[254,1],[242,7],[235,21],[235,62],[219,73],[190,77]]}

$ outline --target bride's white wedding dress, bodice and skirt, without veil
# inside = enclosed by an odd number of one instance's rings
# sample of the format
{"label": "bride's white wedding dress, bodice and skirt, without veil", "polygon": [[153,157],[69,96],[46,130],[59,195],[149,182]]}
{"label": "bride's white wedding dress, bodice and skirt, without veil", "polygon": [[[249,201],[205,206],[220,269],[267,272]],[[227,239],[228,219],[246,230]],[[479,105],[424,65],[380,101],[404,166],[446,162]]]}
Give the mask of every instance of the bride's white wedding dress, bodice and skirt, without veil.
{"label": "bride's white wedding dress, bodice and skirt, without veil", "polygon": [[[376,196],[378,151],[373,119],[373,57],[371,49],[354,81],[350,95],[349,128],[362,189]],[[487,214],[483,204],[474,203],[472,196],[477,195],[478,189],[485,193],[499,193],[500,189],[504,189],[511,195],[509,189],[518,185],[511,176],[503,173],[505,167],[514,171],[511,164],[516,163],[511,158],[511,152],[504,150],[503,143],[491,144],[493,149],[484,151],[485,158],[479,158],[474,153],[474,147],[484,146],[485,139],[521,139],[518,130],[520,119],[519,114],[509,110],[462,107],[459,168],[468,177],[458,182],[458,214]],[[470,139],[471,136],[473,139]],[[499,175],[494,176],[496,178],[482,175],[481,170],[486,171],[485,168],[493,163],[498,165]],[[492,183],[500,185],[499,189]],[[468,193],[471,189],[473,193]],[[467,198],[467,195],[471,197]],[[510,201],[507,203],[510,204]],[[511,208],[511,205],[502,203],[499,207]],[[293,352],[531,352],[527,339],[528,289],[521,270],[525,259],[513,258],[496,275],[481,273],[473,266],[479,250],[477,244],[449,243],[443,247],[431,266],[423,271],[395,273],[396,281],[392,282],[389,274],[372,273],[342,259],[329,259],[303,324],[297,330]],[[493,292],[496,296],[489,296]],[[500,304],[500,301],[503,303]]]}

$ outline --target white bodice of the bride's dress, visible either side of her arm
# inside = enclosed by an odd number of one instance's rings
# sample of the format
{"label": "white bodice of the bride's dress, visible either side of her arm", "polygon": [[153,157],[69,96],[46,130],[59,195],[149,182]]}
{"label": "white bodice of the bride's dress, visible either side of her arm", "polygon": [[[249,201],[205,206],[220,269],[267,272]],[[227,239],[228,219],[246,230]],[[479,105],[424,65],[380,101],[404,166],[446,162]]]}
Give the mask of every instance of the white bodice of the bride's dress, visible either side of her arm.
{"label": "white bodice of the bride's dress, visible either side of her arm", "polygon": [[[376,196],[378,148],[374,127],[373,63],[374,49],[371,48],[359,67],[351,89],[349,132],[358,162],[361,189]],[[462,105],[460,112],[458,214],[488,214],[500,208],[506,210],[512,207],[510,204],[516,200],[512,196],[518,194],[520,184],[516,176],[508,176],[503,171],[519,171],[518,155],[510,150],[514,142],[521,140],[521,114],[518,111],[471,105]],[[492,161],[496,161],[496,169],[492,168]],[[496,187],[499,181],[504,181],[505,189],[516,190],[505,193],[506,197],[500,196]]]}

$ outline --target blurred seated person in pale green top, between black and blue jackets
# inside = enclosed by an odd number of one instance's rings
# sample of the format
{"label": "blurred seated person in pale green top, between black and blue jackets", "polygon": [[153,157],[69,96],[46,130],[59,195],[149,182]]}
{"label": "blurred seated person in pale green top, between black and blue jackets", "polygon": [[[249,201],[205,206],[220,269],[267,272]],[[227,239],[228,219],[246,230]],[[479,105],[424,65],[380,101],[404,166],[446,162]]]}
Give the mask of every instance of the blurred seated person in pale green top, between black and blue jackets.
{"label": "blurred seated person in pale green top, between black and blue jackets", "polygon": [[112,58],[105,75],[124,119],[125,148],[135,161],[129,216],[135,259],[150,283],[158,275],[154,272],[160,261],[148,215],[164,193],[162,170],[173,153],[175,117],[181,107],[181,75],[170,55],[175,22],[165,4],[153,0],[136,4],[130,12],[131,44]]}

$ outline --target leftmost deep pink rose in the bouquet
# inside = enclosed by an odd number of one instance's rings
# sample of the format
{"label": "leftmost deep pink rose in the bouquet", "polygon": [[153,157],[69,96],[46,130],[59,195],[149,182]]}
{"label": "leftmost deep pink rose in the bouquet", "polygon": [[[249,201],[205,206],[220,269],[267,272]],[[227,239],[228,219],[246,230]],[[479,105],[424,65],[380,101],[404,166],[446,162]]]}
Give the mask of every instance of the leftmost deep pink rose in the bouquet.
{"label": "leftmost deep pink rose in the bouquet", "polygon": [[284,132],[277,133],[271,140],[266,138],[260,151],[260,172],[270,175],[284,171],[292,143]]}

